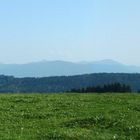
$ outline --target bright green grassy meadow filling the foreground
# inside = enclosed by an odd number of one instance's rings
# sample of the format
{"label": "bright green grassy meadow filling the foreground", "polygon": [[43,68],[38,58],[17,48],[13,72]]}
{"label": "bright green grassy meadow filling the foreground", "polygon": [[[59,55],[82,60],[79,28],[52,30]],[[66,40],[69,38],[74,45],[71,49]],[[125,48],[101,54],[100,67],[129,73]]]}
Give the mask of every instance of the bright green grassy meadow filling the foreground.
{"label": "bright green grassy meadow filling the foreground", "polygon": [[140,94],[1,94],[2,140],[140,140]]}

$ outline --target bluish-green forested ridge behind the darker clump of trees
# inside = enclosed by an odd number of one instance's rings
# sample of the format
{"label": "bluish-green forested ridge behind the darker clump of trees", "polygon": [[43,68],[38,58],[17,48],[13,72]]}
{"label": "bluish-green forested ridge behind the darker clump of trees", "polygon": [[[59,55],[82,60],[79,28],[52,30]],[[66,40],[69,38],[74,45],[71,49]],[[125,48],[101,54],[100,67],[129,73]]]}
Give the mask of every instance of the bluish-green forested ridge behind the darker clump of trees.
{"label": "bluish-green forested ridge behind the darker clump of trees", "polygon": [[77,76],[15,78],[0,76],[0,93],[52,93],[120,83],[140,91],[140,74],[97,73]]}

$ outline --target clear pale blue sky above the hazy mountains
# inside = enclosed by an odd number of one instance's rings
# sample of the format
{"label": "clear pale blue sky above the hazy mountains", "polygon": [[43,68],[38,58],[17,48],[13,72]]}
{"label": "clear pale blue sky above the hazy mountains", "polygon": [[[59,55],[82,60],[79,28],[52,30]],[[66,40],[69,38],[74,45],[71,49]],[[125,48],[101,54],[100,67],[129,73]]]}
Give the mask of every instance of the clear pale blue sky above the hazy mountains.
{"label": "clear pale blue sky above the hazy mountains", "polygon": [[139,7],[139,0],[1,0],[0,62],[140,66]]}

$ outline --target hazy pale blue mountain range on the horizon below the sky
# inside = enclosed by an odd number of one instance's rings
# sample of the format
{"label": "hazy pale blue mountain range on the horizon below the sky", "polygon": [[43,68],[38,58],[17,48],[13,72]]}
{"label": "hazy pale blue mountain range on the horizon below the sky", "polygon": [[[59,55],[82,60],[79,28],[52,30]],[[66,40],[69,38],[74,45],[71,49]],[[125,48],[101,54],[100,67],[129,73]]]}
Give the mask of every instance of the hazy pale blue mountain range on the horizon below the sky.
{"label": "hazy pale blue mountain range on the horizon below the sky", "polygon": [[90,73],[140,73],[140,66],[114,60],[94,62],[40,61],[28,64],[0,64],[0,75],[15,77],[68,76]]}

